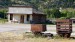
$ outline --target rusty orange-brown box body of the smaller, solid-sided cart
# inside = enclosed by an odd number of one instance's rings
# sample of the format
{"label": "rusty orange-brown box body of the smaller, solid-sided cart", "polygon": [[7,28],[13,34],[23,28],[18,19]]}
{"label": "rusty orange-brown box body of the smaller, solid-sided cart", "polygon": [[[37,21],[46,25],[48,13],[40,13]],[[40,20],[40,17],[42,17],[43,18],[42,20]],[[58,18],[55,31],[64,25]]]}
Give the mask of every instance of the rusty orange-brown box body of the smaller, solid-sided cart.
{"label": "rusty orange-brown box body of the smaller, solid-sided cart", "polygon": [[44,32],[46,31],[46,25],[44,24],[31,24],[32,32]]}

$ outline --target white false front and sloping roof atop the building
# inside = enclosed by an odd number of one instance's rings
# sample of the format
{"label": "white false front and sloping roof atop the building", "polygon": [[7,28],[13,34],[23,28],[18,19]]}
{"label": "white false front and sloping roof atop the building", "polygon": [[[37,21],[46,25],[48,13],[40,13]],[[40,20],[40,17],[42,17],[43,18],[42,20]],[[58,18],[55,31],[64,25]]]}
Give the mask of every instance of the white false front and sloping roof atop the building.
{"label": "white false front and sloping roof atop the building", "polygon": [[12,14],[44,14],[41,11],[33,9],[31,6],[11,6],[8,8],[7,13]]}

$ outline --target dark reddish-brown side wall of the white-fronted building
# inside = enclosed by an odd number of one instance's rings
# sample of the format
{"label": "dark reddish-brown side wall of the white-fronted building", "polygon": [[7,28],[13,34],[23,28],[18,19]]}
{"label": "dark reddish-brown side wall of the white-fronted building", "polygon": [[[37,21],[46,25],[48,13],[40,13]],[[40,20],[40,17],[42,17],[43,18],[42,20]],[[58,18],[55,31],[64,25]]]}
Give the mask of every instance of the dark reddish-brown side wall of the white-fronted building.
{"label": "dark reddish-brown side wall of the white-fronted building", "polygon": [[42,14],[33,14],[33,22],[37,24],[45,23],[46,22],[46,15]]}

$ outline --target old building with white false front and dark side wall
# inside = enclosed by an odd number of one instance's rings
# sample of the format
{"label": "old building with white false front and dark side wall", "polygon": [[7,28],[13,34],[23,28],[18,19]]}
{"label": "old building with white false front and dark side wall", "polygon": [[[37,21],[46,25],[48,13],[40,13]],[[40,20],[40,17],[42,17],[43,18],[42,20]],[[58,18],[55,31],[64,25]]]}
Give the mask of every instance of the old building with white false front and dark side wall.
{"label": "old building with white false front and dark side wall", "polygon": [[31,6],[10,6],[8,8],[8,22],[45,23],[46,15]]}

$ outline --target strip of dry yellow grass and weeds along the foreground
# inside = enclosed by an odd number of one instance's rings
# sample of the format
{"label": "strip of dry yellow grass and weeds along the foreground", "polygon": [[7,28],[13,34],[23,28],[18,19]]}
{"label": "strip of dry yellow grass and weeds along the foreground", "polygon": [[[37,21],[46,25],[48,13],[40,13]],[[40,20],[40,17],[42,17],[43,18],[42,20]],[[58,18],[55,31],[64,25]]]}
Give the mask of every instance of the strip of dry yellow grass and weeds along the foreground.
{"label": "strip of dry yellow grass and weeds along the foreground", "polygon": [[29,33],[2,32],[0,33],[0,42],[75,42],[75,39],[48,39],[34,37],[34,35]]}

